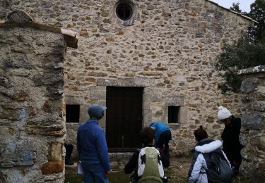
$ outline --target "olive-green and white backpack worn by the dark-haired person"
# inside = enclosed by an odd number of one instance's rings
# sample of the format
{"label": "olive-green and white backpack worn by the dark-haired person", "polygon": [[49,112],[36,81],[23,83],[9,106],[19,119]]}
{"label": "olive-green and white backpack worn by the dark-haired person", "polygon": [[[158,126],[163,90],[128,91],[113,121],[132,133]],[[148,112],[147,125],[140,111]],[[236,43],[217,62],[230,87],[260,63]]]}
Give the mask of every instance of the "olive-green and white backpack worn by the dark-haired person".
{"label": "olive-green and white backpack worn by the dark-haired person", "polygon": [[139,153],[139,183],[163,183],[164,175],[160,153],[154,147],[141,149]]}

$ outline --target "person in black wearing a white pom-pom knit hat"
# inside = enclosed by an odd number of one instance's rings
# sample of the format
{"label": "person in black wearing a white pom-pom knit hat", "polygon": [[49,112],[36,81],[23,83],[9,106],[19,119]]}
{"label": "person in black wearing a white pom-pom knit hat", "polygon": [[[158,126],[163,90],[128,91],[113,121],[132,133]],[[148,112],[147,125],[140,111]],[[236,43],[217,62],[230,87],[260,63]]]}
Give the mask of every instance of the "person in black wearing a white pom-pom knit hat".
{"label": "person in black wearing a white pom-pom knit hat", "polygon": [[225,124],[225,129],[223,130],[223,151],[225,152],[228,160],[230,161],[232,168],[234,168],[235,174],[240,170],[240,165],[242,162],[242,156],[240,154],[243,148],[240,144],[240,129],[241,129],[241,119],[235,118],[227,108],[220,106],[218,108],[218,119]]}

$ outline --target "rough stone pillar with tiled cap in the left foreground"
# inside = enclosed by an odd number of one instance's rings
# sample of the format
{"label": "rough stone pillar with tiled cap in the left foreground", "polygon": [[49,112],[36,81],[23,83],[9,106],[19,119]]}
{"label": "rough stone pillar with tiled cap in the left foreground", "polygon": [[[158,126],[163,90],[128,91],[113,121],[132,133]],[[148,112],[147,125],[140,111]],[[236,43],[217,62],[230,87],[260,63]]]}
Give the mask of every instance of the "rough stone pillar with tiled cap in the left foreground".
{"label": "rough stone pillar with tiled cap in the left foreground", "polygon": [[0,23],[0,182],[64,182],[66,46],[75,32],[23,11]]}

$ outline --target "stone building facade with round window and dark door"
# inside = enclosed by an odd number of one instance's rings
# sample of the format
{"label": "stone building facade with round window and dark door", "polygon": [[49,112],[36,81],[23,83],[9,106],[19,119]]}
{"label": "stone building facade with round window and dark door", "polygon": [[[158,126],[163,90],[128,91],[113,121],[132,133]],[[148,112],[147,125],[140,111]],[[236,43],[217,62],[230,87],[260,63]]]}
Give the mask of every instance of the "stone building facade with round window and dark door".
{"label": "stone building facade with round window and dark door", "polygon": [[220,138],[218,106],[241,115],[237,94],[221,94],[215,68],[225,42],[254,20],[208,0],[18,1],[0,3],[0,18],[23,9],[39,23],[79,33],[78,49],[64,63],[66,141],[88,118],[91,103],[107,106],[100,125],[110,151],[139,146],[143,126],[163,120],[172,129],[172,152],[187,153],[204,125]]}

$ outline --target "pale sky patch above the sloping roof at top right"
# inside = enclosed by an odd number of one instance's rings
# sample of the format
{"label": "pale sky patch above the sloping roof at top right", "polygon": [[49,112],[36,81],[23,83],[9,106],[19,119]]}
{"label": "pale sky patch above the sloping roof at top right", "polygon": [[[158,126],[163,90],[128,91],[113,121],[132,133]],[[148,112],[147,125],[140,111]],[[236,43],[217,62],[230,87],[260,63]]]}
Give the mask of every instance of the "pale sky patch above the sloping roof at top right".
{"label": "pale sky patch above the sloping roof at top right", "polygon": [[230,8],[232,3],[240,3],[240,9],[242,11],[249,12],[250,11],[250,4],[254,3],[255,0],[211,0],[213,2],[218,3],[220,6],[225,8]]}

